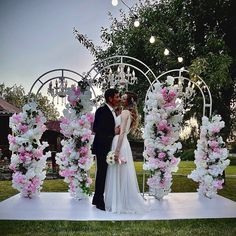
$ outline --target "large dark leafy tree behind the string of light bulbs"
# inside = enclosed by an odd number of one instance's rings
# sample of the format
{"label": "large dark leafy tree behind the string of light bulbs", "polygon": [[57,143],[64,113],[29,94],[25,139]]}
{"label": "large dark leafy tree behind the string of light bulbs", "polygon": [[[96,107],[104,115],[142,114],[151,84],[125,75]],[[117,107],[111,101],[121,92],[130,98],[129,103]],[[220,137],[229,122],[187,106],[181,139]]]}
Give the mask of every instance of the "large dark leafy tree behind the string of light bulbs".
{"label": "large dark leafy tree behind the string of light bulbs", "polygon": [[[103,47],[95,47],[91,40],[74,30],[76,38],[95,56],[95,60],[113,55],[129,55],[147,64],[156,75],[183,66],[177,56],[183,56],[184,66],[192,79],[201,76],[213,95],[213,111],[221,114],[226,123],[224,137],[230,135],[235,118],[232,107],[235,98],[236,34],[235,3],[233,0],[160,0],[139,1],[132,10],[141,20],[133,26],[133,14],[121,11],[121,20],[111,17],[111,25],[101,29]],[[154,2],[154,3],[153,3]],[[151,35],[156,42],[149,43]],[[163,55],[165,48],[171,55]],[[140,75],[139,75],[140,76]],[[144,101],[145,80],[133,86]],[[192,113],[201,116],[196,100]],[[189,116],[192,114],[189,114]],[[199,118],[199,117],[198,117]]]}

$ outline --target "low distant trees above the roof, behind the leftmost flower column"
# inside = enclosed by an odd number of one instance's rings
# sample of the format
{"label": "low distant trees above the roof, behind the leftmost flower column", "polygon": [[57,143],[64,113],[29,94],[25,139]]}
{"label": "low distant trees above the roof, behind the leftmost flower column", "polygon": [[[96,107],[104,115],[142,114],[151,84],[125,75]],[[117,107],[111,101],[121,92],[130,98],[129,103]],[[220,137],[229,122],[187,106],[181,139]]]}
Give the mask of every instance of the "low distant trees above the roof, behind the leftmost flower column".
{"label": "low distant trees above the roof, behind the leftmost flower column", "polygon": [[[22,108],[28,102],[28,95],[25,94],[24,88],[16,84],[12,87],[6,87],[4,83],[0,84],[0,96],[12,105]],[[57,120],[59,112],[46,96],[41,93],[37,98],[32,94],[31,99],[35,99],[40,110],[44,113],[47,120]]]}

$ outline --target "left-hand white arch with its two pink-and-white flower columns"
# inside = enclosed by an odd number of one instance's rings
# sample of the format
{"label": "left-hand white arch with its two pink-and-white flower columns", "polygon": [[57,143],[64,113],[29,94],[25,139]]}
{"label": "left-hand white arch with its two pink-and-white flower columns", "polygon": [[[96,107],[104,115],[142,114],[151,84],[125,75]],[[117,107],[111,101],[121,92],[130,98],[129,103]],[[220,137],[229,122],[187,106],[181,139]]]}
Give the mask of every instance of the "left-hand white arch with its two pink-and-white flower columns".
{"label": "left-hand white arch with its two pink-and-white flower columns", "polygon": [[[52,81],[55,81],[53,86]],[[77,85],[69,86],[67,81]],[[92,141],[91,123],[93,122],[91,91],[96,96],[89,82],[79,73],[68,69],[55,69],[41,75],[33,83],[28,104],[23,112],[14,114],[10,118],[10,127],[13,135],[9,135],[10,150],[12,151],[10,169],[13,171],[13,187],[24,197],[33,197],[39,194],[46,177],[46,160],[51,156],[44,151],[47,142],[40,142],[46,130],[46,118],[38,109],[35,99],[44,86],[49,83],[46,92],[53,99],[56,96],[65,99],[68,96],[64,117],[61,120],[61,133],[65,136],[62,141],[62,152],[56,156],[60,166],[60,175],[69,183],[70,192],[75,198],[81,199],[89,194],[91,179],[88,175],[93,156],[90,151]]]}

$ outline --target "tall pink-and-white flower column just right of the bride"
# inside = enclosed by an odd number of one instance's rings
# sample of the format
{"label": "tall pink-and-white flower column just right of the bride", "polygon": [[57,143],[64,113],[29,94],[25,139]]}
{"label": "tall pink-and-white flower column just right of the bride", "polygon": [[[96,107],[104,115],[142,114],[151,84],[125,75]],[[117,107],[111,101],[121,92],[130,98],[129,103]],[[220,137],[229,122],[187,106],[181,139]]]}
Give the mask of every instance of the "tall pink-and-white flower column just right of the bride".
{"label": "tall pink-and-white flower column just right of the bride", "polygon": [[183,106],[178,102],[178,89],[174,78],[167,76],[165,83],[156,82],[148,92],[144,112],[144,170],[151,172],[148,178],[150,194],[162,199],[171,191],[172,174],[178,170],[180,158],[174,154],[182,148],[179,139]]}

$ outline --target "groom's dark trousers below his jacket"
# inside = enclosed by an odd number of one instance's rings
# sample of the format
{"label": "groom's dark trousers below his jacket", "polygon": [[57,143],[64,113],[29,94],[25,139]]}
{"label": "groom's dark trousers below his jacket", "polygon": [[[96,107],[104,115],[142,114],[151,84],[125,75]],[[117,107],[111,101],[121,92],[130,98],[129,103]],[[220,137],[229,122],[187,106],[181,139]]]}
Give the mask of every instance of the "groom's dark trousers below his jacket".
{"label": "groom's dark trousers below his jacket", "polygon": [[93,197],[94,205],[104,205],[104,189],[105,189],[105,181],[107,174],[107,162],[106,155],[96,155],[97,158],[97,173],[96,173],[96,181],[95,181],[95,194]]}

